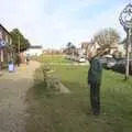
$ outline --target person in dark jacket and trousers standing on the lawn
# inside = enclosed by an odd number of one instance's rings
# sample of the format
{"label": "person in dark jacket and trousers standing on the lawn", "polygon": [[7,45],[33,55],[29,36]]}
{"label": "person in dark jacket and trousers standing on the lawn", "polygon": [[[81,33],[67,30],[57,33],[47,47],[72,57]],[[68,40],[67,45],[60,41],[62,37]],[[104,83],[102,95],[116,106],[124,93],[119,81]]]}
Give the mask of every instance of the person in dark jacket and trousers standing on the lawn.
{"label": "person in dark jacket and trousers standing on the lawn", "polygon": [[95,116],[100,114],[100,86],[102,65],[99,61],[99,54],[90,56],[90,68],[88,70],[88,85],[90,87],[90,103]]}

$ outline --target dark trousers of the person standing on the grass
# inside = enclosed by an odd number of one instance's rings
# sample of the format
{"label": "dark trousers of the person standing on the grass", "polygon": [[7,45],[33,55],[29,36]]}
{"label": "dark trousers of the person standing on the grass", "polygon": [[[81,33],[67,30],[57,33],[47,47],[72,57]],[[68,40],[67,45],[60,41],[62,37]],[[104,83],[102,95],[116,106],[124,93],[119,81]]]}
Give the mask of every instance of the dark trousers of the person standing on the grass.
{"label": "dark trousers of the person standing on the grass", "polygon": [[90,103],[94,114],[100,113],[100,84],[90,84]]}

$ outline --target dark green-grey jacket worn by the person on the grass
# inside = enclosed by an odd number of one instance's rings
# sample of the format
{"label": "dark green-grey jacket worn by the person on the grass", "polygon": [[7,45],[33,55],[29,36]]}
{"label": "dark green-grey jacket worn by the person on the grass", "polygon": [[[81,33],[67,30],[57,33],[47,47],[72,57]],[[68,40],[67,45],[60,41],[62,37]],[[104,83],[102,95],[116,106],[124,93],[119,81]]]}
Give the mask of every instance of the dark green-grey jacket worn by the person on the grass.
{"label": "dark green-grey jacket worn by the person on the grass", "polygon": [[101,84],[101,75],[102,64],[100,63],[99,58],[96,57],[90,62],[90,68],[88,70],[88,84]]}

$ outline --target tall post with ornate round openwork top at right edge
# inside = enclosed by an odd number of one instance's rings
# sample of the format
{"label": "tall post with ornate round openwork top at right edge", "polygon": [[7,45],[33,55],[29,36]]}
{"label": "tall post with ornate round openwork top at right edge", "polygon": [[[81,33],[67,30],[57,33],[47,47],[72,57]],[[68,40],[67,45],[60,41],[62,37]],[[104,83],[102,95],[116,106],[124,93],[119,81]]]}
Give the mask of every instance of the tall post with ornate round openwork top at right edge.
{"label": "tall post with ornate round openwork top at right edge", "polygon": [[127,32],[127,64],[125,64],[125,80],[129,78],[129,59],[131,52],[131,35],[132,35],[132,4],[129,3],[119,16],[120,24]]}

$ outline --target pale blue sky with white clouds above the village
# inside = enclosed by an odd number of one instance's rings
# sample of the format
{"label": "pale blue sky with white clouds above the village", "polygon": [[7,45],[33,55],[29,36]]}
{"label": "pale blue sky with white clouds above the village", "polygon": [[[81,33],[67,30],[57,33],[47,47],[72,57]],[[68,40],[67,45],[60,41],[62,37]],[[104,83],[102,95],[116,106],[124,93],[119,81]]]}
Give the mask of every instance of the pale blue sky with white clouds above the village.
{"label": "pale blue sky with white clouds above the village", "polygon": [[0,23],[18,28],[32,45],[62,48],[78,46],[105,28],[114,28],[122,37],[120,12],[131,0],[0,0]]}

